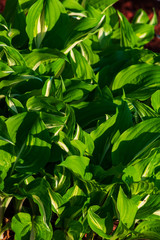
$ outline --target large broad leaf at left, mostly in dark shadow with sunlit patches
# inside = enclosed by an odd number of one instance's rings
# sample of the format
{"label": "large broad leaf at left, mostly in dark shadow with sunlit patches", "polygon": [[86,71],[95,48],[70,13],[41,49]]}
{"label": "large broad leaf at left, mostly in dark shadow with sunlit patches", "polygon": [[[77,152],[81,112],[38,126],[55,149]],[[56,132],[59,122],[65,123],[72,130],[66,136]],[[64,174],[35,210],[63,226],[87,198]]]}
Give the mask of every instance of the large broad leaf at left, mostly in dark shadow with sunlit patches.
{"label": "large broad leaf at left, mostly in dark shadow with sunlit patches", "polygon": [[[13,170],[37,172],[50,157],[50,138],[36,113],[20,113],[6,121],[8,132],[15,143]],[[13,171],[12,170],[12,171]]]}

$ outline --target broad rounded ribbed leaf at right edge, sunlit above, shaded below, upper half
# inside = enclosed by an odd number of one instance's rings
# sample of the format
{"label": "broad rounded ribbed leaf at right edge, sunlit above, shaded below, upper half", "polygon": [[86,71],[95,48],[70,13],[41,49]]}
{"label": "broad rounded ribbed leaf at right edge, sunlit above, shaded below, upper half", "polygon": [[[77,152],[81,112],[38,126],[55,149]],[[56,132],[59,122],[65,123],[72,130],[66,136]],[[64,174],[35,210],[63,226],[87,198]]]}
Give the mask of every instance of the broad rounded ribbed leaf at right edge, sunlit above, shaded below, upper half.
{"label": "broad rounded ribbed leaf at right edge, sunlit above, shaded below, upper half", "polygon": [[120,71],[114,79],[112,90],[115,94],[145,100],[159,88],[160,67],[149,64],[136,64]]}

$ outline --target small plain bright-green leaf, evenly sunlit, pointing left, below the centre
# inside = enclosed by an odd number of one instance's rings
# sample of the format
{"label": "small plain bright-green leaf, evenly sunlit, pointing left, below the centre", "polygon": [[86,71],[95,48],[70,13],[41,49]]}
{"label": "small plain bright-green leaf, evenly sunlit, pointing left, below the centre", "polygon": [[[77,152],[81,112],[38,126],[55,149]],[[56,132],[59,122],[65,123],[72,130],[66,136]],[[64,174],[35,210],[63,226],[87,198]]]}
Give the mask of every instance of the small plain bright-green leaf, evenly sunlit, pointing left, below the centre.
{"label": "small plain bright-green leaf, evenly sunlit, pointing left, below the centre", "polygon": [[69,156],[59,166],[66,167],[75,174],[85,177],[86,168],[89,165],[89,158],[81,156]]}

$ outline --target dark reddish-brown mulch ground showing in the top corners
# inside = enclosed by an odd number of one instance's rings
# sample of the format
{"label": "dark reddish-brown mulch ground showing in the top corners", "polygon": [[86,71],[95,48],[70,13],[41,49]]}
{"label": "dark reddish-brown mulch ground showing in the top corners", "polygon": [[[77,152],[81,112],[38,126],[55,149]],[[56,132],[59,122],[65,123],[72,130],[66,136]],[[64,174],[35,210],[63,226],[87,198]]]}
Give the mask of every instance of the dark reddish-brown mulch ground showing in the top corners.
{"label": "dark reddish-brown mulch ground showing in the top corners", "polygon": [[[0,12],[3,11],[6,0],[0,0]],[[106,0],[107,1],[107,0]],[[153,16],[153,8],[155,8],[158,16],[158,25],[155,27],[155,38],[146,45],[146,47],[154,52],[160,52],[160,0],[119,0],[114,7],[120,10],[129,21],[132,20],[136,11],[140,8],[145,10],[149,16]]]}

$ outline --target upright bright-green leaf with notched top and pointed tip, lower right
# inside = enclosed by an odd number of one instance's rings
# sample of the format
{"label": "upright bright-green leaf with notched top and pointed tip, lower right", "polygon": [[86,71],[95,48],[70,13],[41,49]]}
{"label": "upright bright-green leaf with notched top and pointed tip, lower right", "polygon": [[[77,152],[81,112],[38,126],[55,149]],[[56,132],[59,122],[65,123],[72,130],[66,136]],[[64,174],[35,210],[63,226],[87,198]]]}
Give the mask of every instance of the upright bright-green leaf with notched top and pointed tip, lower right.
{"label": "upright bright-green leaf with notched top and pointed tip, lower right", "polygon": [[117,199],[117,208],[120,214],[120,221],[122,221],[127,228],[130,228],[134,223],[140,199],[140,196],[134,196],[130,199],[127,198],[123,189],[120,187]]}

